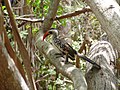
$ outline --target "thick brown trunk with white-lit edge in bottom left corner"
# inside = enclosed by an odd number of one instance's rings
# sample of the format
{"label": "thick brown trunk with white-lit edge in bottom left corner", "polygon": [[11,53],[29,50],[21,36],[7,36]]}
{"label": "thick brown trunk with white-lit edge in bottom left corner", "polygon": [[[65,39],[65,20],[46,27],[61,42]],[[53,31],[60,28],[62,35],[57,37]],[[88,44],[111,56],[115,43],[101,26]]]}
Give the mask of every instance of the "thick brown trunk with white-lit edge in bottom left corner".
{"label": "thick brown trunk with white-lit edge in bottom left corner", "polygon": [[29,90],[0,37],[0,90]]}

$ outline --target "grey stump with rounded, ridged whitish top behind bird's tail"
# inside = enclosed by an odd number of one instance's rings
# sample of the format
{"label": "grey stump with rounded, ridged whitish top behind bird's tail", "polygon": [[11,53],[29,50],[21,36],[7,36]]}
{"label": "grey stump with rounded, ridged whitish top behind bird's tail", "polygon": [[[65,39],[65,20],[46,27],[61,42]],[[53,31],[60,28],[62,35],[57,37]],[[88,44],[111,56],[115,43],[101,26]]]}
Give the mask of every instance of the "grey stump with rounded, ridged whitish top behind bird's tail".
{"label": "grey stump with rounded, ridged whitish top behind bird's tail", "polygon": [[116,54],[110,43],[100,41],[90,50],[90,58],[96,60],[101,70],[87,68],[86,80],[88,90],[118,90],[117,78],[115,76]]}

